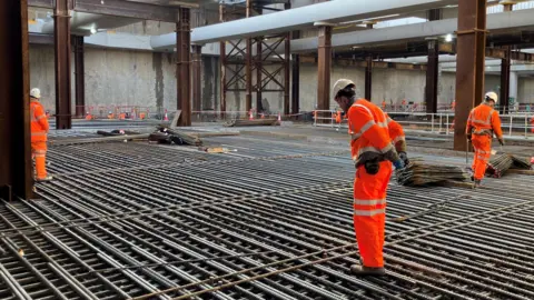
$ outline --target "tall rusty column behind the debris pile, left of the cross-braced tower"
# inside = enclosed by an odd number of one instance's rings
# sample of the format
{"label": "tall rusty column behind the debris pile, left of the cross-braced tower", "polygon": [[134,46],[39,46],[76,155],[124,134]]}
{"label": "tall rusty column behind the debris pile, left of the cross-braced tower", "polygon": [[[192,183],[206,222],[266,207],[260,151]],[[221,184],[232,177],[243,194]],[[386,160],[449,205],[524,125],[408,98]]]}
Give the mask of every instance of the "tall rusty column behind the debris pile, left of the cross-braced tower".
{"label": "tall rusty column behind the debris pile, left of the cross-braced tower", "polygon": [[176,23],[177,106],[181,109],[178,126],[191,126],[190,9],[178,9]]}

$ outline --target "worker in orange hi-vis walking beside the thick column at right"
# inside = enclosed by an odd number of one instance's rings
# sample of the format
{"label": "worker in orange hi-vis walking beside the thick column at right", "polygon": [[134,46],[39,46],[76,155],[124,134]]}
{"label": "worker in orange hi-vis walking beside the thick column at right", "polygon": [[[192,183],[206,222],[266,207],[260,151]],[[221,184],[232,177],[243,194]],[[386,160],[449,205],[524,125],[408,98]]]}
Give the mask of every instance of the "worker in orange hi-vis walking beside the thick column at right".
{"label": "worker in orange hi-vis walking beside the thick column at right", "polygon": [[467,119],[467,140],[473,143],[473,148],[475,149],[472,166],[475,187],[481,186],[484,173],[486,172],[487,161],[492,154],[493,133],[497,136],[498,143],[504,146],[501,118],[498,118],[498,112],[494,109],[496,103],[497,94],[495,92],[486,93],[484,102],[474,108]]}

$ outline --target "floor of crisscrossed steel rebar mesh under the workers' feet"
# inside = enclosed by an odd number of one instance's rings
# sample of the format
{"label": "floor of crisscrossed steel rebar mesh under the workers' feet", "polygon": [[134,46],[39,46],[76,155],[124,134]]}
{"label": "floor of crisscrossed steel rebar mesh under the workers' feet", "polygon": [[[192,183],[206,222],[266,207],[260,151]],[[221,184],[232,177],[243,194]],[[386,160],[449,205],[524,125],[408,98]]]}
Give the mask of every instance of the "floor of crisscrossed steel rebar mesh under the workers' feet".
{"label": "floor of crisscrossed steel rebar mesh under the workers' feet", "polygon": [[362,278],[349,273],[346,148],[207,140],[237,151],[51,147],[39,200],[0,206],[0,299],[534,299],[531,177],[479,190],[392,181],[387,276]]}

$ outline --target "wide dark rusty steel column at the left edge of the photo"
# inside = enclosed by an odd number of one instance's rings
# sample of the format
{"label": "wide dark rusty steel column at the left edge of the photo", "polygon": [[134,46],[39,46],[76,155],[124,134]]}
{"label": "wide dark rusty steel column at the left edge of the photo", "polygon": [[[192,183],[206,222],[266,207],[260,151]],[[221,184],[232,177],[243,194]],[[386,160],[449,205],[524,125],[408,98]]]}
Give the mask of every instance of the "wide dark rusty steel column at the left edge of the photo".
{"label": "wide dark rusty steel column at the left edge of the photo", "polygon": [[8,201],[32,198],[28,39],[28,1],[0,1],[0,198]]}

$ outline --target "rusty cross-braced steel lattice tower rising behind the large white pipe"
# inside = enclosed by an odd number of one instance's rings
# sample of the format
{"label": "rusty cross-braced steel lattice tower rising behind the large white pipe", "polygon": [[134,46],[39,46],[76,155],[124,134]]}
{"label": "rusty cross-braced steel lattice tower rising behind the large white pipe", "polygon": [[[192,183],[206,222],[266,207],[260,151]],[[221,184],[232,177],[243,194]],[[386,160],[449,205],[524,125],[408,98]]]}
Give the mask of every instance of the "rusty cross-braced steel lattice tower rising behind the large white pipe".
{"label": "rusty cross-braced steel lattice tower rising behind the large white pipe", "polygon": [[[234,6],[235,7],[235,6]],[[287,8],[287,6],[286,6]],[[253,16],[253,10],[259,13],[263,6],[248,0],[245,10],[246,18]],[[234,10],[236,13],[238,10]],[[219,20],[225,22],[229,14],[225,6],[219,7]],[[221,118],[226,114],[227,92],[245,92],[245,110],[253,109],[253,92],[256,92],[256,113],[264,111],[261,98],[264,92],[284,93],[284,113],[288,114],[290,109],[290,32],[281,34],[263,36],[239,40],[220,42],[220,112]],[[269,41],[269,43],[266,42]],[[276,49],[284,44],[284,56],[277,53]],[[227,53],[227,48],[229,51]],[[256,54],[254,54],[256,49]],[[267,67],[274,67],[267,68]],[[270,70],[273,69],[273,70]],[[253,74],[256,72],[256,82],[253,83]],[[284,80],[276,77],[281,74]],[[276,88],[267,88],[275,83]],[[298,106],[297,106],[298,107]]]}

